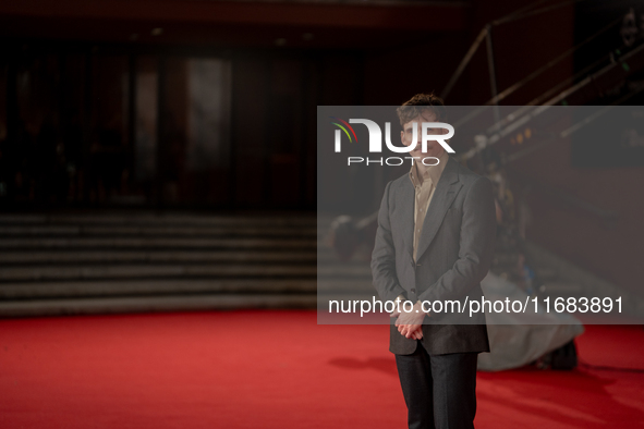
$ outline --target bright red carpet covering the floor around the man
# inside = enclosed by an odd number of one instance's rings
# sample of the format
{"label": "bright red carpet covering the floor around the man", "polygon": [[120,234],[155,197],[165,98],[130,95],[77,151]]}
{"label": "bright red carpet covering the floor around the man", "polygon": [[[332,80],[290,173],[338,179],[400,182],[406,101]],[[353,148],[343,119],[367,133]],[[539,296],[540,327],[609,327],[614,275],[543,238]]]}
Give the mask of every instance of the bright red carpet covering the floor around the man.
{"label": "bright red carpet covering the floor around the man", "polygon": [[[0,428],[405,427],[382,326],[311,311],[0,320]],[[644,427],[642,327],[586,327],[574,371],[479,372],[477,428]]]}

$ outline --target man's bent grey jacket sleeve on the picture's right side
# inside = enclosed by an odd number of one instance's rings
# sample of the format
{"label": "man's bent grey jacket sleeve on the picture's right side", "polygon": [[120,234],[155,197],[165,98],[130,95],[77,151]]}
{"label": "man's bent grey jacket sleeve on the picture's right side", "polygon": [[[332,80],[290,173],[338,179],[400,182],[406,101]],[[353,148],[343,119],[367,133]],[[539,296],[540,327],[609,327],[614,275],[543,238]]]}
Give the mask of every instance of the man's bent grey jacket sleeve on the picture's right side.
{"label": "man's bent grey jacket sleeve on the picture's right side", "polygon": [[463,201],[459,259],[418,298],[432,302],[464,298],[491,266],[496,231],[494,187],[489,179],[482,176],[470,186]]}

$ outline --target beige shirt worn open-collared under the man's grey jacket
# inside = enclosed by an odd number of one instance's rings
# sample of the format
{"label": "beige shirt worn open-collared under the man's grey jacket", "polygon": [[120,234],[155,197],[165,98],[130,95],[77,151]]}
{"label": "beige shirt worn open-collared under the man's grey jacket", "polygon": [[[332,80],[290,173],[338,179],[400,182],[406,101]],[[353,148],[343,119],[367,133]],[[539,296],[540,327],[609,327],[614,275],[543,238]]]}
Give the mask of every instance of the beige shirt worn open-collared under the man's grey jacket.
{"label": "beige shirt worn open-collared under the man's grey jacket", "polygon": [[[425,214],[432,203],[432,197],[436,191],[438,180],[445,170],[445,166],[449,160],[449,155],[443,150],[442,155],[438,157],[439,163],[437,166],[428,166],[425,173],[421,177],[418,174],[417,162],[414,162],[410,170],[410,180],[414,185],[414,261],[416,260],[416,252],[418,249],[418,241],[421,240],[421,232],[423,231],[423,222]],[[421,162],[421,161],[418,161]]]}

